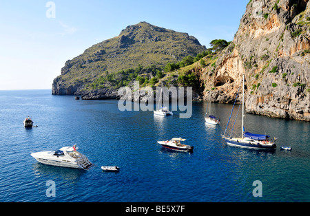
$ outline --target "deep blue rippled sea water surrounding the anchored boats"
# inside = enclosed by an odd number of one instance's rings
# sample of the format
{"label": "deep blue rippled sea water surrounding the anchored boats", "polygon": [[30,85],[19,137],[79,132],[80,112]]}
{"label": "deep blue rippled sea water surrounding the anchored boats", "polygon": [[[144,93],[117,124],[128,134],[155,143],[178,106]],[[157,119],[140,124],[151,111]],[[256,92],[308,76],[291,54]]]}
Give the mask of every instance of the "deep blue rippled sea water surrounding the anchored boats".
{"label": "deep blue rippled sea water surrounding the anchored boats", "polygon": [[[0,202],[310,202],[310,123],[245,114],[245,129],[277,138],[277,149],[231,147],[222,139],[231,108],[211,104],[221,119],[214,127],[205,124],[207,102],[192,102],[191,118],[179,110],[160,117],[120,111],[118,100],[0,91]],[[27,116],[38,127],[23,127]],[[240,128],[237,118],[233,133]],[[186,139],[194,151],[157,143],[171,138]],[[95,164],[89,170],[30,155],[74,144]]]}

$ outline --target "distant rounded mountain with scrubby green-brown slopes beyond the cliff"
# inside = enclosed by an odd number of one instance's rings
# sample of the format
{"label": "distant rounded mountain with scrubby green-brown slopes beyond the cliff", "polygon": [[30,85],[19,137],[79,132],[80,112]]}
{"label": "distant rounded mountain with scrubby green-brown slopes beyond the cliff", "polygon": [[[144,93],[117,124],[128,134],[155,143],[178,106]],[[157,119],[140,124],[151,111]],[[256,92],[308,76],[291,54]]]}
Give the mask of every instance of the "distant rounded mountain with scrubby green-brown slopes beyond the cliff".
{"label": "distant rounded mountain with scrubby green-brown slopes beyond the cliff", "polygon": [[161,68],[167,62],[178,62],[185,56],[196,56],[204,50],[205,46],[187,33],[159,28],[146,22],[130,25],[118,36],[97,43],[68,60],[61,69],[61,75],[54,79],[52,94],[98,91],[92,83],[102,76],[138,66],[146,68],[156,65]]}

